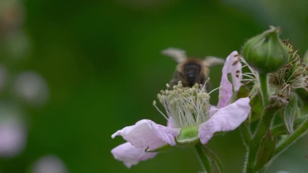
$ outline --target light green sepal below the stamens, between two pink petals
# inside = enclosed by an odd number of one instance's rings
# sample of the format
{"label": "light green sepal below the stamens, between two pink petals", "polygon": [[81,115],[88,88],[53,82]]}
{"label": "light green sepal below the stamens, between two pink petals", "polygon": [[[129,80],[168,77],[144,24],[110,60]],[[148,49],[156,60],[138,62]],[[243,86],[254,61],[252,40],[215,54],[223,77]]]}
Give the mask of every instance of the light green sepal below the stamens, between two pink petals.
{"label": "light green sepal below the stamens, between two pink petals", "polygon": [[180,145],[195,145],[200,140],[198,137],[198,126],[182,128],[175,140]]}

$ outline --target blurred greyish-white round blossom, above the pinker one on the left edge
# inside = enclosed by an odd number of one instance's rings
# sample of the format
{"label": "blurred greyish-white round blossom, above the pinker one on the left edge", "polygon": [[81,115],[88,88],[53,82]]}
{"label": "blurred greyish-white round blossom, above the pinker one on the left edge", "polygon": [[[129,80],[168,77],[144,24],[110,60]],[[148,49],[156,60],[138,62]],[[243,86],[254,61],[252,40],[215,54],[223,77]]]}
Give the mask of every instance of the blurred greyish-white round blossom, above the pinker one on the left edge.
{"label": "blurred greyish-white round blossom, above the pinker one on the left edge", "polygon": [[32,71],[23,72],[16,77],[14,93],[32,105],[44,104],[49,96],[44,78]]}

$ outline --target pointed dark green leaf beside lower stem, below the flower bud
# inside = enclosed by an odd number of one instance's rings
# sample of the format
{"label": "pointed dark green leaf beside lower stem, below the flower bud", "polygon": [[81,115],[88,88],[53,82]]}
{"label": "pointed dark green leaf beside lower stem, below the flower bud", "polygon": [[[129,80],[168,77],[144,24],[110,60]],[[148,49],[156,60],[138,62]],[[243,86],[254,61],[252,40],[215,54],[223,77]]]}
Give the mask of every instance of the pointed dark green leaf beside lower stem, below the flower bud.
{"label": "pointed dark green leaf beside lower stem, below the flower bud", "polygon": [[260,142],[260,147],[257,152],[255,170],[262,168],[274,155],[277,138],[273,138],[271,131],[268,128],[267,133]]}

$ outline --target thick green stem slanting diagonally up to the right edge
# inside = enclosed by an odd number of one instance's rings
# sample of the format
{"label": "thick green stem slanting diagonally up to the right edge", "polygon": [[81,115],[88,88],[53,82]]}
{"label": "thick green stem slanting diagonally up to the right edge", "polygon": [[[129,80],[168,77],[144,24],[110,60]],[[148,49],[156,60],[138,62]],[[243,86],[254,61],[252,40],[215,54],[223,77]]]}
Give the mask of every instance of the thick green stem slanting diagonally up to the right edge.
{"label": "thick green stem slanting diagonally up to the right edge", "polygon": [[308,120],[303,122],[292,135],[290,135],[281,145],[276,148],[275,156],[284,151],[287,147],[289,147],[292,143],[298,140],[308,129]]}

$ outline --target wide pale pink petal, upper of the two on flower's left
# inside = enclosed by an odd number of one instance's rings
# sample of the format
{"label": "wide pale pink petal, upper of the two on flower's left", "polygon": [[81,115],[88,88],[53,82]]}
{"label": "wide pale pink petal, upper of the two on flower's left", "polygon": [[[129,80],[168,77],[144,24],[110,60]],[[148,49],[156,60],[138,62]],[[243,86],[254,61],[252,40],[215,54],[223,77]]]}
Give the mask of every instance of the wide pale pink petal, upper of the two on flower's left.
{"label": "wide pale pink petal, upper of the two on flower's left", "polygon": [[142,119],[135,125],[127,126],[114,133],[111,137],[122,136],[137,148],[148,148],[155,150],[166,144],[174,146],[175,140],[180,133],[179,128],[166,127],[155,122]]}

